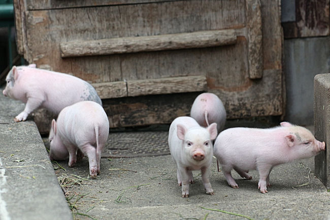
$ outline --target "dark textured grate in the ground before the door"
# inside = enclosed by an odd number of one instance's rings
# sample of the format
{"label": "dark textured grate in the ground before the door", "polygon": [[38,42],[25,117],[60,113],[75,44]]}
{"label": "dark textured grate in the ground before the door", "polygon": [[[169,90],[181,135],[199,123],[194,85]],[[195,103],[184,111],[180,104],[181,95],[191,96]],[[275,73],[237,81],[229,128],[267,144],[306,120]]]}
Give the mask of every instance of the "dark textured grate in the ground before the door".
{"label": "dark textured grate in the ground before the door", "polygon": [[136,158],[170,154],[168,132],[110,133],[102,158]]}

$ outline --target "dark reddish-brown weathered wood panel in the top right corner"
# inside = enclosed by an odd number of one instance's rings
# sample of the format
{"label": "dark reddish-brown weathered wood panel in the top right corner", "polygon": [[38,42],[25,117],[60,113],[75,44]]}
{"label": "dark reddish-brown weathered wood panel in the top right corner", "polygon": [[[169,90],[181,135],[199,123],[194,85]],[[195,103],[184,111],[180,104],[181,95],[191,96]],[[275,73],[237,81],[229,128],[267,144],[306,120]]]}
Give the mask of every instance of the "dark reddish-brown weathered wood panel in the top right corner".
{"label": "dark reddish-brown weathered wood panel in the top right corner", "polygon": [[330,0],[296,0],[295,21],[283,22],[284,38],[330,34]]}

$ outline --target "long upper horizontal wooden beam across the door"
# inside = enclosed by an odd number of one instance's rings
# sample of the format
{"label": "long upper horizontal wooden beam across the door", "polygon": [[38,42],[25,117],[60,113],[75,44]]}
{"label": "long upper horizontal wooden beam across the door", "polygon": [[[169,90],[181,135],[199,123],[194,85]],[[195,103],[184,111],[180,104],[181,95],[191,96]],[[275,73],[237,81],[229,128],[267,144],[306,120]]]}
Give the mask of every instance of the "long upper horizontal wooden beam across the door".
{"label": "long upper horizontal wooden beam across the door", "polygon": [[234,29],[72,41],[60,44],[61,57],[96,56],[158,50],[214,47],[236,43]]}

